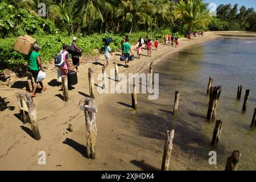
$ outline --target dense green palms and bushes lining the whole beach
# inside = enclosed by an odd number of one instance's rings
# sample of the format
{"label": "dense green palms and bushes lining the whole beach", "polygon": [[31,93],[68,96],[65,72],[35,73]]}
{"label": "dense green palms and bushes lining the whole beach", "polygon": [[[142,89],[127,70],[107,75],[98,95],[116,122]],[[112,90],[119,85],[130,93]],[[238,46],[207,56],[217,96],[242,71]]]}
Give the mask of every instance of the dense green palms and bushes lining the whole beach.
{"label": "dense green palms and bushes lining the whole beach", "polygon": [[[46,16],[39,16],[38,3],[46,4]],[[119,48],[124,35],[131,42],[146,35],[184,36],[193,30],[255,30],[255,11],[237,5],[220,5],[211,17],[203,0],[3,0],[0,2],[0,70],[16,69],[27,57],[13,50],[19,35],[32,35],[42,46],[48,63],[72,36],[84,54],[102,47],[102,38],[113,38]]]}

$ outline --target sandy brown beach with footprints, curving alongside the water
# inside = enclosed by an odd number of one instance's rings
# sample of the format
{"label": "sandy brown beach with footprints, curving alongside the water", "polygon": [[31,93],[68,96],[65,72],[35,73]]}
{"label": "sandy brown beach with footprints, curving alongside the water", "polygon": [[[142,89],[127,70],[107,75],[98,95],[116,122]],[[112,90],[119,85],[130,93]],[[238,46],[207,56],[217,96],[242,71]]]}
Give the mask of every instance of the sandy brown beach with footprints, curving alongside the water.
{"label": "sandy brown beach with footprints, curving alongside the water", "polygon": [[[222,34],[222,32],[221,32]],[[143,49],[141,59],[130,61],[129,68],[119,61],[121,52],[114,52],[110,56],[110,65],[106,73],[110,75],[110,68],[114,68],[113,61],[118,61],[119,73],[139,73],[148,69],[150,62],[154,64],[161,61],[170,53],[179,52],[182,49],[221,39],[222,36],[215,32],[206,32],[204,37],[192,37],[191,41],[180,39],[180,46],[175,48],[160,43],[158,51],[152,50],[152,57],[147,57],[147,51]],[[133,54],[137,52],[133,46]],[[81,57],[84,59],[84,57]],[[98,135],[96,141],[96,159],[85,158],[85,118],[84,112],[79,109],[80,100],[89,95],[88,68],[94,71],[94,82],[98,84],[97,76],[102,72],[105,63],[104,55],[91,57],[81,61],[78,74],[79,83],[74,89],[69,90],[69,101],[64,102],[62,91],[57,78],[57,68],[51,64],[52,69],[46,71],[47,77],[43,81],[47,87],[44,93],[37,93],[34,103],[37,110],[39,130],[42,139],[32,138],[30,125],[19,119],[19,109],[16,101],[16,92],[25,92],[26,78],[18,78],[10,87],[0,87],[0,170],[159,170],[162,163],[164,140],[142,137],[134,123],[118,122],[122,118],[122,111],[126,107],[117,107],[116,114],[109,116],[106,107],[114,94],[96,92],[96,123]],[[86,62],[86,63],[85,63]],[[49,66],[48,66],[49,67]],[[130,101],[122,101],[129,102]],[[133,112],[133,111],[131,111]],[[134,113],[136,114],[136,113]],[[118,119],[116,119],[118,118]],[[68,124],[73,125],[73,133],[67,130]],[[164,138],[164,136],[163,136]],[[38,152],[47,154],[46,165],[38,164]],[[177,162],[174,154],[172,165],[175,168],[186,170],[183,163]],[[146,161],[146,162],[145,162]],[[185,163],[185,162],[184,162]]]}

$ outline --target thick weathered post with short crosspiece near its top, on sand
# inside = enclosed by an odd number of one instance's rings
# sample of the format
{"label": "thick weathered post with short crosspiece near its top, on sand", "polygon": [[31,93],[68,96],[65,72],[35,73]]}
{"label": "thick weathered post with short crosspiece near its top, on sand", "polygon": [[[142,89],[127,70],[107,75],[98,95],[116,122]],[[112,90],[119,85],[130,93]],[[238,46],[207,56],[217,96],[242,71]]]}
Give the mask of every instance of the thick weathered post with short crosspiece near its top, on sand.
{"label": "thick weathered post with short crosspiece near its top, on sand", "polygon": [[84,110],[85,126],[86,126],[86,156],[87,158],[95,159],[96,156],[96,116],[97,109],[94,105],[94,99],[86,97],[84,105],[80,105],[80,109]]}

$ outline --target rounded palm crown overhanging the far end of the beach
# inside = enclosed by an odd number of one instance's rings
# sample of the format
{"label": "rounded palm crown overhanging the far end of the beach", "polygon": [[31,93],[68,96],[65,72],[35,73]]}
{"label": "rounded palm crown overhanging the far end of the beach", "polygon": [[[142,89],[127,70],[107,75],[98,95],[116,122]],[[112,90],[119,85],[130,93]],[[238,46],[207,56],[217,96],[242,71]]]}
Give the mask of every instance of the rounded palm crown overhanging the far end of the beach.
{"label": "rounded palm crown overhanging the far end of the beach", "polygon": [[207,3],[203,0],[187,0],[187,2],[180,1],[175,6],[175,18],[180,19],[183,23],[188,25],[188,31],[192,28],[207,26],[210,22],[209,10]]}

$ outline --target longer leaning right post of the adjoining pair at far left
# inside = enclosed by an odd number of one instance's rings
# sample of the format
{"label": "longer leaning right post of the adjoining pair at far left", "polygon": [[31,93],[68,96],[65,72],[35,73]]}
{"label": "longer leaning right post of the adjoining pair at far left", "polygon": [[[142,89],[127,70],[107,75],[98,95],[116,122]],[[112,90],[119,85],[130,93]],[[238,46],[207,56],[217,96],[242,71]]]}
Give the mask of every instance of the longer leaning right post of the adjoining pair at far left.
{"label": "longer leaning right post of the adjoining pair at far left", "polygon": [[36,140],[39,140],[41,138],[39,129],[38,129],[38,122],[36,121],[36,109],[35,109],[35,104],[32,101],[32,98],[30,94],[26,94],[26,102],[27,102],[27,108],[28,108],[28,115],[30,118],[30,125],[31,125],[31,130],[34,135],[34,138]]}

